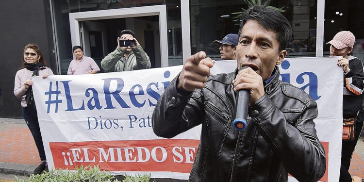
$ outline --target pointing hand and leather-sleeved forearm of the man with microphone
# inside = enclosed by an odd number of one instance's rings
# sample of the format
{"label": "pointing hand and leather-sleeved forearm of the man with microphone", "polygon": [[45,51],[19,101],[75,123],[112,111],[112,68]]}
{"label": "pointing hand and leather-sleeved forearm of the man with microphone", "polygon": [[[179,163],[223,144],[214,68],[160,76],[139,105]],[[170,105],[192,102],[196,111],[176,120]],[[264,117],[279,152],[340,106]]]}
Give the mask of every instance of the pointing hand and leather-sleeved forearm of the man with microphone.
{"label": "pointing hand and leather-sleeved forearm of the man with microphone", "polygon": [[[203,107],[198,90],[205,86],[212,66],[214,62],[202,51],[186,59],[182,72],[169,83],[154,108],[152,125],[157,136],[172,138],[202,123]],[[195,92],[193,96],[182,96],[177,89]]]}

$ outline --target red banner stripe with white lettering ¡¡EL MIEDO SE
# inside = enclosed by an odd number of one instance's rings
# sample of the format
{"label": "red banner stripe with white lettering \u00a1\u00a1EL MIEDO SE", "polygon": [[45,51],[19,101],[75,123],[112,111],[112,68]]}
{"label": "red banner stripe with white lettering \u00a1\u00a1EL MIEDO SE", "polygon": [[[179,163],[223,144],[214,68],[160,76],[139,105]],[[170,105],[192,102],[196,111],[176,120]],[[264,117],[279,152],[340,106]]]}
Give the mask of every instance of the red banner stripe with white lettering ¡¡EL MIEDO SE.
{"label": "red banner stripe with white lettering \u00a1\u00a1EL MIEDO SE", "polygon": [[55,168],[99,165],[107,171],[172,171],[189,173],[199,140],[50,142]]}

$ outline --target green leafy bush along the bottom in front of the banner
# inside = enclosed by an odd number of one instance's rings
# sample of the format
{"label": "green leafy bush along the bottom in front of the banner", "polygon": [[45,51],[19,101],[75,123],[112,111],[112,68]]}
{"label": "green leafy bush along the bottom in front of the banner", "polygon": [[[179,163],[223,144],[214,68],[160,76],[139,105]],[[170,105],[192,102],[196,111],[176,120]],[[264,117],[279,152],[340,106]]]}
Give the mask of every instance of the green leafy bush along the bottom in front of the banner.
{"label": "green leafy bush along the bottom in front of the banner", "polygon": [[[91,167],[86,166],[76,167],[76,172],[70,170],[50,170],[42,174],[32,174],[28,179],[19,179],[15,176],[17,182],[120,182],[119,180],[112,180],[115,176],[100,171],[99,166]],[[122,182],[149,182],[149,175],[125,175]]]}

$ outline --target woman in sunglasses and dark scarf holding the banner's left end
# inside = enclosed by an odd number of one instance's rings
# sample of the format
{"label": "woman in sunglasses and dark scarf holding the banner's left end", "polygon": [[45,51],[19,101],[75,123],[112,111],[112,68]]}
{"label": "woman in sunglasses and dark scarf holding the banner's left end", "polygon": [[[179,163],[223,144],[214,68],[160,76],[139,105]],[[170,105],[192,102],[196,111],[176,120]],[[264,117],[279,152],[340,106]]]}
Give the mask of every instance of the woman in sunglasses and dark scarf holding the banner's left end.
{"label": "woman in sunglasses and dark scarf holding the banner's left end", "polygon": [[47,166],[46,154],[44,152],[42,136],[40,133],[35,103],[33,102],[32,77],[42,76],[47,78],[53,75],[52,70],[46,66],[46,61],[39,47],[28,44],[24,48],[22,69],[17,71],[14,82],[14,95],[21,98],[20,105],[23,107],[23,117],[31,131],[35,145],[40,157],[40,165],[34,169],[34,174],[42,173]]}

